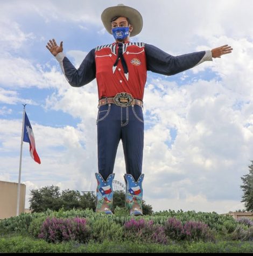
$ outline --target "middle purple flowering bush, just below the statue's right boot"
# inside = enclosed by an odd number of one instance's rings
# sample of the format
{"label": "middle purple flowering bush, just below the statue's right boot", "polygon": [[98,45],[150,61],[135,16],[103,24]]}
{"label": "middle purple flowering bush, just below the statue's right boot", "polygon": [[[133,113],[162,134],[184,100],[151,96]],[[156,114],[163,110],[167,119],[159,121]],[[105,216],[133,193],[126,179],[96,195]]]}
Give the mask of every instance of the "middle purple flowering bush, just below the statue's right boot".
{"label": "middle purple flowering bush, just below the statue's right boot", "polygon": [[124,237],[131,241],[151,241],[158,244],[167,244],[164,227],[154,224],[152,220],[131,219],[124,224]]}

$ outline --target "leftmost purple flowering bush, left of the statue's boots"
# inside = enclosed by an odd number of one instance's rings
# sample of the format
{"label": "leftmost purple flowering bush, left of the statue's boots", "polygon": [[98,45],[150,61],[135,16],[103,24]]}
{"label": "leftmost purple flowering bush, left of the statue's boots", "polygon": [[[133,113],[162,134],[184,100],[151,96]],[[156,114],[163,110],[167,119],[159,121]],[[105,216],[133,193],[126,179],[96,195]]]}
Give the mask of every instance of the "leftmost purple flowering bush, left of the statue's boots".
{"label": "leftmost purple flowering bush, left of the statue's boots", "polygon": [[48,217],[41,226],[39,238],[50,243],[77,240],[86,242],[90,238],[90,227],[85,218],[50,218]]}

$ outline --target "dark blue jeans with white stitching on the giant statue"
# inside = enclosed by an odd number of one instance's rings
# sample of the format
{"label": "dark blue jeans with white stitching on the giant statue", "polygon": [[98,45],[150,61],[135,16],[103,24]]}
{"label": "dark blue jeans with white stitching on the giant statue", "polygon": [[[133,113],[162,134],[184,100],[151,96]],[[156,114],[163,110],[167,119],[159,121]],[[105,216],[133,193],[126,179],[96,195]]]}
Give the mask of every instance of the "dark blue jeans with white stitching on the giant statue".
{"label": "dark blue jeans with white stitching on the giant statue", "polygon": [[144,121],[142,107],[107,104],[97,114],[99,173],[106,181],[113,173],[118,143],[122,140],[126,174],[137,181],[142,174]]}

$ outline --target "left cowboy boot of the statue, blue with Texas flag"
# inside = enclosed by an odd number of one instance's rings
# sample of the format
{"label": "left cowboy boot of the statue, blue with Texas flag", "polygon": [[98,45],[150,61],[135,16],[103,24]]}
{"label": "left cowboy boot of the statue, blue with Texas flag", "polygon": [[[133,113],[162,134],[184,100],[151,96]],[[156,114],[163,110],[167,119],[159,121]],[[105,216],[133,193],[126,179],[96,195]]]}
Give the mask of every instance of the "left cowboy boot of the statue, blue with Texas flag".
{"label": "left cowboy boot of the statue, blue with Texas flag", "polygon": [[106,214],[113,214],[113,179],[115,174],[110,174],[106,181],[104,181],[101,174],[96,173],[97,189],[96,189],[96,212],[104,212]]}

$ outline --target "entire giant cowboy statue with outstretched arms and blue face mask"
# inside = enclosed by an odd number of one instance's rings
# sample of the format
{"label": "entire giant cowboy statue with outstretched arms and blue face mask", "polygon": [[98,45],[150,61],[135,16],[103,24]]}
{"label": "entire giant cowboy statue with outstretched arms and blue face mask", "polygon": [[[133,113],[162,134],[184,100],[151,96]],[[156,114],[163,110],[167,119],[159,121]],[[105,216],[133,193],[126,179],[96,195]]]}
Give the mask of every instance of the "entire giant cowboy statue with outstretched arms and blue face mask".
{"label": "entire giant cowboy statue with outstretched arms and blue face mask", "polygon": [[102,12],[106,30],[115,38],[112,44],[92,49],[78,70],[64,55],[54,39],[47,49],[59,61],[62,72],[71,86],[80,87],[96,78],[99,93],[97,114],[97,179],[96,212],[113,214],[113,179],[117,147],[122,140],[126,174],[126,207],[130,215],[143,215],[142,174],[144,120],[143,94],[147,71],[173,75],[188,70],[203,61],[230,53],[228,45],[213,50],[171,56],[157,47],[130,42],[142,30],[142,15],[123,4]]}

